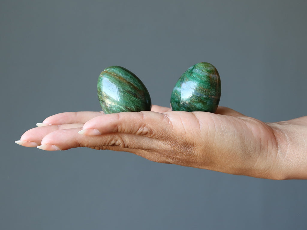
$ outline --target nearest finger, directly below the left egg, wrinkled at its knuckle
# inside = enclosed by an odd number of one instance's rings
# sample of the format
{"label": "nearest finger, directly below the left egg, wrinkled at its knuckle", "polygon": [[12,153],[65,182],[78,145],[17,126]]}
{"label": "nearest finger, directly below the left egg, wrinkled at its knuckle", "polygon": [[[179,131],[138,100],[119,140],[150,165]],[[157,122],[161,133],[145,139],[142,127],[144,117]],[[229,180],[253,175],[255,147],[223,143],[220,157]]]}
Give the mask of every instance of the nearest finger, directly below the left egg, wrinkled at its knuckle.
{"label": "nearest finger, directly below the left egg, wrinkled at its knuckle", "polygon": [[[163,131],[169,128],[169,122],[168,115],[164,113],[151,111],[113,113],[95,117],[86,122],[80,134],[94,136],[119,132],[157,137],[163,135]],[[98,132],[90,133],[87,130]]]}

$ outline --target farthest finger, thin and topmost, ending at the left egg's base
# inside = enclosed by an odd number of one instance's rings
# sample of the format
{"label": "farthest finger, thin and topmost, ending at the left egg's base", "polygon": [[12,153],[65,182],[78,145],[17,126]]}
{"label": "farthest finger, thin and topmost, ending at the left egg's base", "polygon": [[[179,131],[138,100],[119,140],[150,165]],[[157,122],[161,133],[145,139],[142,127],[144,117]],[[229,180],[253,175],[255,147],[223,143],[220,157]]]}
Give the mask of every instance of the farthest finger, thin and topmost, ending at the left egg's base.
{"label": "farthest finger, thin and topmost, ending at the left egg's base", "polygon": [[85,123],[94,117],[103,115],[103,112],[66,112],[58,113],[47,117],[42,123],[38,123],[40,126],[45,125],[62,125],[71,123]]}

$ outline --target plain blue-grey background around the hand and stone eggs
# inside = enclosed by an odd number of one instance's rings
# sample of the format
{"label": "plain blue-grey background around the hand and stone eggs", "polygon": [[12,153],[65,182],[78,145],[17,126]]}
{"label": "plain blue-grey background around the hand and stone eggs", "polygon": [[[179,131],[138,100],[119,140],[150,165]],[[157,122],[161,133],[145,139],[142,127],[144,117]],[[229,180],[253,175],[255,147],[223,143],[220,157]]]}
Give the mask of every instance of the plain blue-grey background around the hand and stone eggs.
{"label": "plain blue-grey background around the hand and stone eggs", "polygon": [[14,143],[52,114],[100,110],[96,82],[111,65],[169,106],[180,75],[210,62],[220,105],[267,122],[305,116],[306,10],[306,1],[2,0],[0,229],[306,229],[304,180]]}

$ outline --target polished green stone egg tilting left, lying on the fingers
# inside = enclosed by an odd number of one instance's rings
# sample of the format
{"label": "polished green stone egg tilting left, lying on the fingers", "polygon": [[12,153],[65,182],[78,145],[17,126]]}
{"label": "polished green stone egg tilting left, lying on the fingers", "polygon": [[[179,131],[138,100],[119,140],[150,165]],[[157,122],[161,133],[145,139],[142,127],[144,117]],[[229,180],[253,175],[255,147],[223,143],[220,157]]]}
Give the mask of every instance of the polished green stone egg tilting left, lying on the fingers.
{"label": "polished green stone egg tilting left, lying on the fingers", "polygon": [[99,103],[105,114],[150,111],[151,99],[143,82],[120,66],[104,69],[97,82]]}

